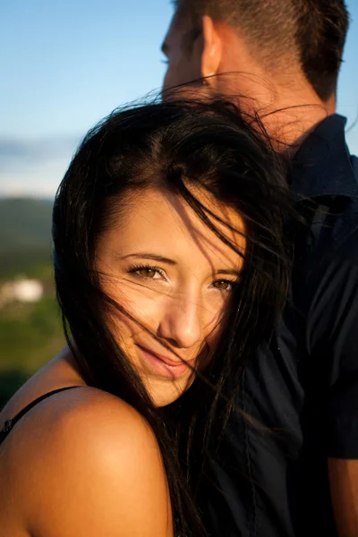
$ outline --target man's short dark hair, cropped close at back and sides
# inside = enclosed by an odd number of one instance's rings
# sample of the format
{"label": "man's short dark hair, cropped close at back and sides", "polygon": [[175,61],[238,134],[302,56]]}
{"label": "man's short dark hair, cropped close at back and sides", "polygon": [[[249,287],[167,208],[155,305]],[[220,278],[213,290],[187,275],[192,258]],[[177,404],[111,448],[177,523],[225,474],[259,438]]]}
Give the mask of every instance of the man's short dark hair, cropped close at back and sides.
{"label": "man's short dark hair, cropped close at back and sides", "polygon": [[176,15],[237,27],[268,69],[298,60],[323,101],[335,94],[349,15],[344,0],[174,0]]}

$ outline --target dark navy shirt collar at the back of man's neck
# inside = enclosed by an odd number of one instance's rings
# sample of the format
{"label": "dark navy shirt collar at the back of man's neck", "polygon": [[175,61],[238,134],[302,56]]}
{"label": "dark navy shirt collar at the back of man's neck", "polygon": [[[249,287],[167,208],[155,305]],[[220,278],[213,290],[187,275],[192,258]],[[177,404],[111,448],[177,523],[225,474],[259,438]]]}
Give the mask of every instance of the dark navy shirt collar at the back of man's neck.
{"label": "dark navy shirt collar at the back of man's neck", "polygon": [[345,117],[329,115],[298,150],[291,172],[294,197],[358,197],[358,177],[345,144]]}

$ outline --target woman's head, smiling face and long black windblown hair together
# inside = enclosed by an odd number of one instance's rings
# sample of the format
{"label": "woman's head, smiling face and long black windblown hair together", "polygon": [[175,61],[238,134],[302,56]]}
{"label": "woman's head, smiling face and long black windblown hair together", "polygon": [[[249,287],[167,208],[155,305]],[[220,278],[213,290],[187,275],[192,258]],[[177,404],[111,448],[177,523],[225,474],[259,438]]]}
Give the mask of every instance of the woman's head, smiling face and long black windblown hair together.
{"label": "woman's head, smiling face and long black windblown hair together", "polygon": [[[195,444],[196,422],[214,438],[217,402],[272,334],[290,276],[285,170],[249,119],[218,100],[115,111],[84,138],[55,199],[69,345],[90,386],[152,426],[175,530],[188,536],[203,533],[177,442],[187,427]],[[171,436],[156,405],[190,384],[200,399]]]}

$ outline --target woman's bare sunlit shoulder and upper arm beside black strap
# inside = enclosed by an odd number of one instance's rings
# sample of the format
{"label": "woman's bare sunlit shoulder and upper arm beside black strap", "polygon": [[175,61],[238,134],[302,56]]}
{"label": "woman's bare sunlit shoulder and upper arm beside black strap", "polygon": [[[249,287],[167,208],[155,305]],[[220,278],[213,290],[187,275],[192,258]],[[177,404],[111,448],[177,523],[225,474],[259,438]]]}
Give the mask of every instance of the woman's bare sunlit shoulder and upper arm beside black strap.
{"label": "woman's bare sunlit shoulder and upper arm beside black strap", "polygon": [[88,537],[171,536],[166,473],[141,414],[88,387],[61,392],[41,405],[18,438],[27,447],[18,475],[21,490],[14,492],[25,502],[31,531],[51,536],[56,528],[56,535],[66,537],[78,527],[75,534]]}

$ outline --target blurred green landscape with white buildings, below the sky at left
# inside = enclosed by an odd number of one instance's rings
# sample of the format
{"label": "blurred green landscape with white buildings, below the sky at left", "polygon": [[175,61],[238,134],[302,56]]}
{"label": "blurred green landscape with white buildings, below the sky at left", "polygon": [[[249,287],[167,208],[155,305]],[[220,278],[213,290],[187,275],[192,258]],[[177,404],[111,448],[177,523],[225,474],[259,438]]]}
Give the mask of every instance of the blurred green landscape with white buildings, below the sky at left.
{"label": "blurred green landscape with white buildings, below the sky at left", "polygon": [[0,200],[0,407],[64,345],[51,267],[52,200]]}

